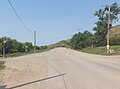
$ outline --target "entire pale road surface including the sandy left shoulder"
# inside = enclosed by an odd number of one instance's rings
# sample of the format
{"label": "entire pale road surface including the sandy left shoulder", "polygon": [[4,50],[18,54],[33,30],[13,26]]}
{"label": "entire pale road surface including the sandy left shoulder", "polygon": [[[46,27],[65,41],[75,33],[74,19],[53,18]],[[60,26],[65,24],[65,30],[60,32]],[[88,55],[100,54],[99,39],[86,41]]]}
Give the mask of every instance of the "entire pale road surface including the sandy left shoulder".
{"label": "entire pale road surface including the sandy left shoulder", "polygon": [[[2,84],[15,89],[120,89],[120,56],[107,57],[56,48],[6,59]],[[56,76],[66,73],[64,76]],[[38,79],[44,81],[34,82]],[[27,82],[32,82],[26,84]]]}

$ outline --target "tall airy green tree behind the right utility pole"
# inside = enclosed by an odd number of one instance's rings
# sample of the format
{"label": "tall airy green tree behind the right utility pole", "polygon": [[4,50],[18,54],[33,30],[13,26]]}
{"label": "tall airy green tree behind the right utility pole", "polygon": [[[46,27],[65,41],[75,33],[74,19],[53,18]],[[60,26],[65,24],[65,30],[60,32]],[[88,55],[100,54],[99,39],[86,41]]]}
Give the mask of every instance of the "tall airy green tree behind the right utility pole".
{"label": "tall airy green tree behind the right utility pole", "polygon": [[[108,24],[108,10],[109,6],[106,5],[103,9],[99,9],[95,12],[95,16],[98,17],[98,22],[96,22],[96,27],[93,28],[95,31],[95,38],[97,40],[97,46],[102,46],[106,44],[106,35],[107,35],[107,24]],[[120,7],[115,2],[110,5],[110,21],[111,26],[113,22],[118,21],[118,14],[120,14]]]}

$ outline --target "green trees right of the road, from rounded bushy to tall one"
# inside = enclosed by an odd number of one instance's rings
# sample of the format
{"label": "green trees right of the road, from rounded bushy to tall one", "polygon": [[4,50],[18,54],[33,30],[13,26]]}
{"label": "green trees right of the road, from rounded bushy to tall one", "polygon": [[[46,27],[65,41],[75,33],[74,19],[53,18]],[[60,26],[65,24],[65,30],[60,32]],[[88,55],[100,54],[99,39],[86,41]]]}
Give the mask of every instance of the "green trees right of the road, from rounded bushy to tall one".
{"label": "green trees right of the road, from rounded bushy to tall one", "polygon": [[[82,49],[89,46],[105,46],[107,29],[108,29],[108,14],[109,7],[106,5],[104,8],[95,11],[94,16],[97,16],[98,21],[96,26],[92,29],[94,33],[89,31],[78,32],[70,40],[71,48]],[[110,5],[110,28],[112,24],[119,20],[120,6],[115,2]],[[120,44],[120,35],[110,36],[110,45]]]}

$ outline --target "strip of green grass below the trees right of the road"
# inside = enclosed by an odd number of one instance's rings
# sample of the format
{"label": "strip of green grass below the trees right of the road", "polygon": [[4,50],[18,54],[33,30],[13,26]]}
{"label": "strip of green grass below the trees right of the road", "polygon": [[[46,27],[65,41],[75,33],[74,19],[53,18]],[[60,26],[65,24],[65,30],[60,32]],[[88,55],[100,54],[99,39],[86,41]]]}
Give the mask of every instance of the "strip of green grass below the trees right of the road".
{"label": "strip of green grass below the trees right of the road", "polygon": [[107,50],[106,47],[88,47],[88,48],[84,48],[81,51],[82,52],[86,52],[86,53],[90,53],[90,54],[98,54],[98,55],[120,55],[120,45],[117,46],[111,46],[111,48],[114,50],[115,53],[113,54],[107,54]]}

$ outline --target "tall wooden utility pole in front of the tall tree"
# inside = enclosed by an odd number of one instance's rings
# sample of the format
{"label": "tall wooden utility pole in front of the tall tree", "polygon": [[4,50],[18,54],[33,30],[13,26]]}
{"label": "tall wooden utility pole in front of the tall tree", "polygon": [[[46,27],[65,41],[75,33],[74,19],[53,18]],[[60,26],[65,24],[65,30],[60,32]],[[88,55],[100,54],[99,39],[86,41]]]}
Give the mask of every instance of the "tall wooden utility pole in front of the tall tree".
{"label": "tall wooden utility pole in front of the tall tree", "polygon": [[107,54],[110,52],[110,6],[108,6]]}

